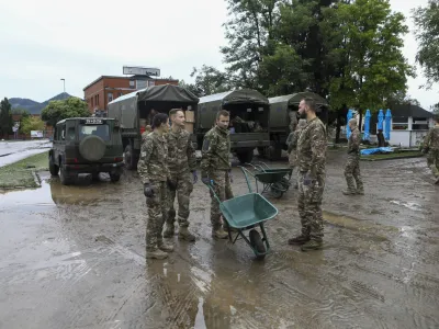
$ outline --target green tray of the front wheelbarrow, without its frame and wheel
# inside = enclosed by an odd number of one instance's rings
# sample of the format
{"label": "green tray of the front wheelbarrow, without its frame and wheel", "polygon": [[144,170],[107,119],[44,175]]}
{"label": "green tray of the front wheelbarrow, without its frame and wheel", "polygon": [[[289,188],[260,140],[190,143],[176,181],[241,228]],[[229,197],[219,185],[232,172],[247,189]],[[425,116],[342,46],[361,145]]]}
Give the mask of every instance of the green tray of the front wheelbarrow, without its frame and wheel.
{"label": "green tray of the front wheelbarrow, without its frame and wheel", "polygon": [[248,193],[219,204],[230,227],[250,228],[278,215],[278,209],[259,193]]}

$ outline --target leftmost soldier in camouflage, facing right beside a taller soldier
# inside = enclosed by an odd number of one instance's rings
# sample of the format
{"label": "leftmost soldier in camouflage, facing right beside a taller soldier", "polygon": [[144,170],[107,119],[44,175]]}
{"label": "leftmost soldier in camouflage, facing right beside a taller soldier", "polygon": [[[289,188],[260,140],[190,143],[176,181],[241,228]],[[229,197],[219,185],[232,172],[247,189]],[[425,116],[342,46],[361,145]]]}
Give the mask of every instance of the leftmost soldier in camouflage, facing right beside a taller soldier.
{"label": "leftmost soldier in camouflage, facing right beside a taller soldier", "polygon": [[146,224],[146,258],[165,259],[173,250],[164,241],[161,231],[169,211],[168,189],[175,189],[170,180],[165,134],[169,129],[168,115],[157,114],[153,120],[153,133],[148,134],[140,147],[137,171],[144,183],[148,207]]}

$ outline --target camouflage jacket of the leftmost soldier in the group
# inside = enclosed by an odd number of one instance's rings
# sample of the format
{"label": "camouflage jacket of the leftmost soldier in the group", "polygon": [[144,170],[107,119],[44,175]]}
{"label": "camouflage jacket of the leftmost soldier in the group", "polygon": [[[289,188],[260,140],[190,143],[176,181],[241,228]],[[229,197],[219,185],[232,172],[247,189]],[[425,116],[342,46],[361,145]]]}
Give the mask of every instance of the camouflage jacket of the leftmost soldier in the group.
{"label": "camouflage jacket of the leftmost soldier in the group", "polygon": [[149,133],[140,147],[140,159],[137,163],[137,172],[142,182],[164,182],[169,178],[168,147],[165,136]]}

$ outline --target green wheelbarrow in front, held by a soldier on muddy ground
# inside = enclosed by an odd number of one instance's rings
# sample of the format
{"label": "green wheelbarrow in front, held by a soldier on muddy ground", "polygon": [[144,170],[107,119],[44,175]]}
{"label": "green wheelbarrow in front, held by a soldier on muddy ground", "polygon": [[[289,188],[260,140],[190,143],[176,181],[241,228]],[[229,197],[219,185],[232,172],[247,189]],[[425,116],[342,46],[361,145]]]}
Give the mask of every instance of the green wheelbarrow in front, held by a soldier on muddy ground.
{"label": "green wheelbarrow in front, held by a soldier on muddy ground", "polygon": [[[248,246],[250,246],[257,259],[264,259],[266,254],[270,250],[270,243],[263,224],[278,215],[278,208],[261,194],[251,191],[247,175],[246,181],[249,193],[226,201],[221,201],[216,195],[213,189],[213,184],[215,184],[214,181],[211,181],[209,189],[219,203],[223,219],[228,224],[228,239],[232,245],[235,245],[238,238],[241,238]],[[258,226],[262,237],[256,229]],[[232,229],[237,232],[235,238],[233,238]],[[245,230],[250,230],[248,238],[244,234]]]}

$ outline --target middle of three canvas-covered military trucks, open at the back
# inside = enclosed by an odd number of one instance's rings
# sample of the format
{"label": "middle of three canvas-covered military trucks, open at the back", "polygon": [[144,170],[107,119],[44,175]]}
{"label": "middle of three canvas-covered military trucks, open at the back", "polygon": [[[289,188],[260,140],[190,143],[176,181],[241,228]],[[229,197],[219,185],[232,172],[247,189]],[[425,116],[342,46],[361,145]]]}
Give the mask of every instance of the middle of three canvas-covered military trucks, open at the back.
{"label": "middle of three canvas-covered military trucks, open at the back", "polygon": [[230,147],[241,163],[251,161],[255,148],[270,145],[268,99],[256,90],[240,89],[200,98],[195,121],[200,148],[219,110],[230,113]]}

